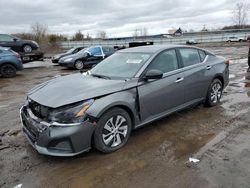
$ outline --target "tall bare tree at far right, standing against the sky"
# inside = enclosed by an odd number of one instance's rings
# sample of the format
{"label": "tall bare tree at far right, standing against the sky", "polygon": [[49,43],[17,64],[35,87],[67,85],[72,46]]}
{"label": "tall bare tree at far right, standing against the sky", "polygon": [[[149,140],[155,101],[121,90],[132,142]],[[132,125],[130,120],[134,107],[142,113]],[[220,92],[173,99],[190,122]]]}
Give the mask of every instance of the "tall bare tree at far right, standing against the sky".
{"label": "tall bare tree at far right, standing against the sky", "polygon": [[249,3],[238,2],[233,10],[233,22],[239,28],[243,28],[247,23],[249,7]]}

